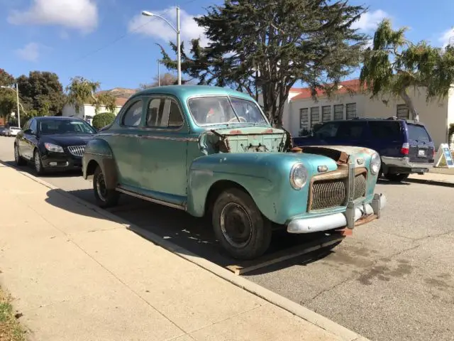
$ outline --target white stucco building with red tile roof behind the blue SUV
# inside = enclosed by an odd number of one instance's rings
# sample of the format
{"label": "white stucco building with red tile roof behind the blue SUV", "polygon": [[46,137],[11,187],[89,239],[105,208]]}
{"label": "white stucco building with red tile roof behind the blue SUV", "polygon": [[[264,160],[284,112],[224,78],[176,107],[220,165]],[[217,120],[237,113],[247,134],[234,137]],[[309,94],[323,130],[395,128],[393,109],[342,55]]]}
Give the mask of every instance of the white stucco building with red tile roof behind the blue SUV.
{"label": "white stucco building with red tile roof behind the blue SUV", "polygon": [[[419,112],[419,121],[428,129],[436,148],[448,143],[449,125],[454,123],[454,91],[445,99],[429,103],[423,88],[411,90],[409,94]],[[302,129],[310,130],[314,124],[333,119],[392,116],[411,119],[404,101],[370,99],[370,94],[361,91],[359,80],[348,80],[329,99],[323,92],[319,92],[316,100],[312,99],[309,88],[292,89],[284,107],[282,125],[292,136],[299,136]]]}

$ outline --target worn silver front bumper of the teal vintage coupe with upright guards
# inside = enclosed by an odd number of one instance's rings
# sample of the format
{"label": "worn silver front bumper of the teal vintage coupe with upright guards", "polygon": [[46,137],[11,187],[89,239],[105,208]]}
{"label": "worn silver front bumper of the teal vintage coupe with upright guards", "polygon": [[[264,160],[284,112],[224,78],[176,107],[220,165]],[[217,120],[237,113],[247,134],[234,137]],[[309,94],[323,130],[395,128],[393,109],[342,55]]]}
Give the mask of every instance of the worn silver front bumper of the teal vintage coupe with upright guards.
{"label": "worn silver front bumper of the teal vintage coupe with upright guards", "polygon": [[295,218],[287,224],[287,232],[313,233],[343,227],[353,229],[355,225],[380,218],[380,213],[385,206],[386,197],[384,194],[375,194],[370,204],[354,205],[353,202],[349,202],[345,212],[314,218]]}

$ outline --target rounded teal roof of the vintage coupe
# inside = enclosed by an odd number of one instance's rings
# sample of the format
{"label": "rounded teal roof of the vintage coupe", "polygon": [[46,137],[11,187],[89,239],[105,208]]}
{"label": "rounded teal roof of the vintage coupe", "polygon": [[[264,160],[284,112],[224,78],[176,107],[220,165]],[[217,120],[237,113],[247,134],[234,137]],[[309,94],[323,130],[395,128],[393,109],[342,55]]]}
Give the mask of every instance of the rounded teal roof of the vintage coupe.
{"label": "rounded teal roof of the vintage coupe", "polygon": [[162,87],[151,87],[150,89],[134,94],[133,97],[143,94],[169,94],[182,99],[201,95],[236,96],[244,99],[251,99],[248,94],[243,92],[238,92],[227,87],[212,87],[209,85],[167,85]]}

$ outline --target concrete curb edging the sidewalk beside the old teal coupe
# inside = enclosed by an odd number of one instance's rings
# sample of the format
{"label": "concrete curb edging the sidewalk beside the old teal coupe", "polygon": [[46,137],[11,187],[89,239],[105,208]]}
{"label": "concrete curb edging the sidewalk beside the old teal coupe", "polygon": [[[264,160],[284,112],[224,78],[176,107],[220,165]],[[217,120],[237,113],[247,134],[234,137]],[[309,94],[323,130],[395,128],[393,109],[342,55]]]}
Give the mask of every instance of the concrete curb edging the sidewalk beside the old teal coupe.
{"label": "concrete curb edging the sidewalk beside the old teal coupe", "polygon": [[247,279],[245,279],[243,277],[236,276],[231,271],[228,271],[227,269],[224,269],[221,266],[211,263],[211,261],[201,258],[201,257],[197,256],[196,254],[193,254],[192,252],[187,251],[186,249],[184,249],[182,247],[178,247],[177,245],[175,245],[171,242],[168,242],[165,239],[162,239],[161,237],[157,236],[157,234],[154,234],[153,232],[150,232],[148,230],[142,229],[141,227],[135,226],[134,224],[131,224],[131,222],[123,220],[121,217],[118,217],[118,216],[112,214],[111,212],[107,212],[106,210],[103,210],[100,207],[97,207],[96,205],[91,204],[90,202],[86,202],[82,199],[79,199],[78,197],[65,192],[65,190],[62,190],[61,188],[57,188],[56,186],[54,186],[50,183],[47,183],[47,182],[41,180],[40,178],[36,178],[35,176],[33,176],[29,173],[23,172],[16,167],[13,167],[13,166],[6,164],[4,162],[1,162],[1,161],[0,161],[0,163],[3,163],[4,166],[10,167],[10,168],[15,168],[19,173],[26,176],[27,178],[30,178],[31,180],[35,181],[36,183],[40,183],[41,185],[44,185],[45,187],[50,188],[51,190],[56,190],[58,193],[67,197],[68,199],[73,200],[85,207],[88,207],[91,210],[94,210],[95,212],[99,213],[99,215],[102,215],[109,220],[123,224],[124,227],[139,234],[141,237],[148,239],[150,242],[153,242],[154,244],[157,244],[160,247],[163,247],[164,249],[167,249],[168,251],[171,251],[172,253],[177,254],[177,256],[180,256],[183,259],[186,259],[187,261],[190,261],[191,263],[196,264],[197,266],[200,266],[201,268],[205,269],[206,271],[211,272],[211,274],[214,274],[220,278],[223,278],[224,280],[234,284],[235,286],[238,286],[239,288],[242,288],[243,290],[248,291],[249,293],[252,293],[255,296],[258,296],[269,303],[277,305],[279,308],[287,310],[289,313],[297,315],[299,318],[302,318],[303,320],[306,320],[309,323],[319,326],[323,330],[326,330],[338,337],[341,337],[342,340],[367,341],[367,339],[365,337],[358,335],[357,333],[353,332],[352,330],[349,330],[348,328],[338,325],[338,323],[335,323],[332,320],[329,320],[328,318],[325,318],[322,315],[319,315],[318,313],[315,313],[314,311],[309,310],[308,308],[305,308],[302,305],[299,305],[298,303],[294,303],[293,301],[290,301],[288,298],[284,298],[283,296],[280,296],[277,293],[274,293],[266,288],[263,288],[262,286],[259,286],[256,283],[248,281]]}

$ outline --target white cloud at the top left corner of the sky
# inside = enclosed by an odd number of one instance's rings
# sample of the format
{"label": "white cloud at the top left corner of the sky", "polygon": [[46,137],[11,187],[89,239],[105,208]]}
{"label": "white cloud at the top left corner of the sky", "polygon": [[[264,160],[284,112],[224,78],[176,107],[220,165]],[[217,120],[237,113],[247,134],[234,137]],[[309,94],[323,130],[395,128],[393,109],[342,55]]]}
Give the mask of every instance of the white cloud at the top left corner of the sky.
{"label": "white cloud at the top left corner of the sky", "polygon": [[98,25],[98,9],[94,0],[33,0],[30,9],[12,11],[8,21],[16,25],[60,25],[88,33]]}

